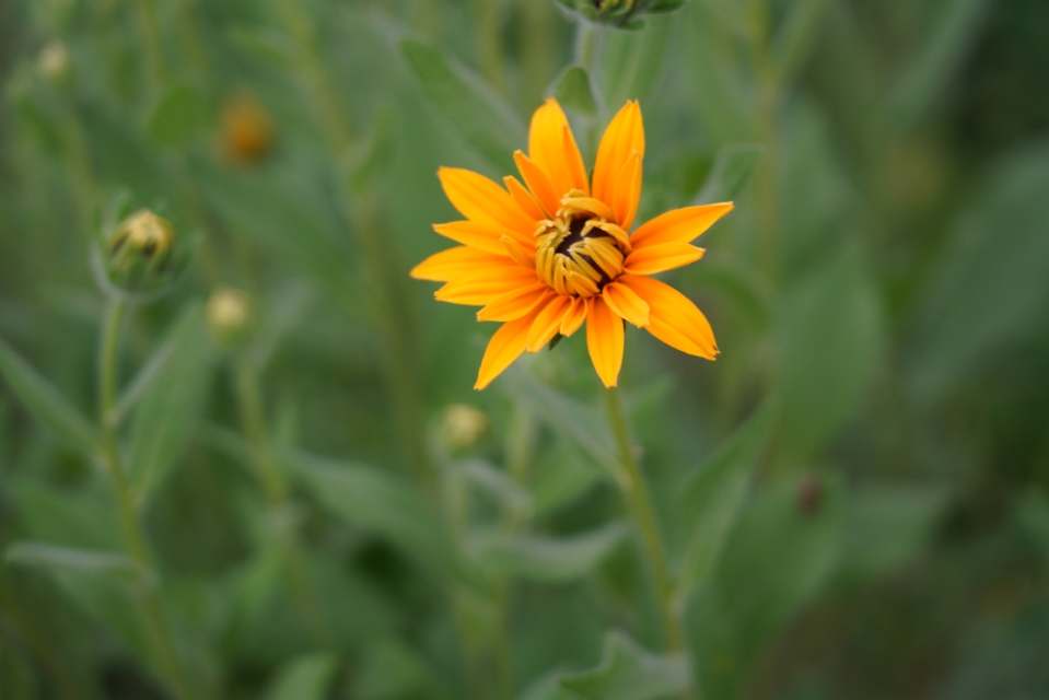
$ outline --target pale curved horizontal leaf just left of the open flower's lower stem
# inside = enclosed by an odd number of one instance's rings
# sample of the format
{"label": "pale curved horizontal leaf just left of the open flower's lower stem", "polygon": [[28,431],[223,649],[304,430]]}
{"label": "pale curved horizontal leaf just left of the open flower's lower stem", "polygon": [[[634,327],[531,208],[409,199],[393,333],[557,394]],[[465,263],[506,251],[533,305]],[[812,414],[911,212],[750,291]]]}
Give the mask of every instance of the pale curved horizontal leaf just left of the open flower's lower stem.
{"label": "pale curved horizontal leaf just left of the open flower's lower stem", "polygon": [[620,523],[571,537],[497,534],[477,542],[480,560],[503,575],[560,583],[601,563],[627,534]]}

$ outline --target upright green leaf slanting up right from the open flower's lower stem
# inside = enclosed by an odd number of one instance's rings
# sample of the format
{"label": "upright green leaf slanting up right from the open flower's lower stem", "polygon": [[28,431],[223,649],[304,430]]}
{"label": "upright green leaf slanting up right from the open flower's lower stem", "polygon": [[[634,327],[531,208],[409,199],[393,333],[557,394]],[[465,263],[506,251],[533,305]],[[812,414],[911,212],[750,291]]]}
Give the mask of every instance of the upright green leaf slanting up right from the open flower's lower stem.
{"label": "upright green leaf slanting up right from the open flower's lower stem", "polygon": [[677,595],[702,583],[721,556],[750,488],[750,475],[776,424],[778,408],[766,404],[679,489],[676,513],[687,537]]}

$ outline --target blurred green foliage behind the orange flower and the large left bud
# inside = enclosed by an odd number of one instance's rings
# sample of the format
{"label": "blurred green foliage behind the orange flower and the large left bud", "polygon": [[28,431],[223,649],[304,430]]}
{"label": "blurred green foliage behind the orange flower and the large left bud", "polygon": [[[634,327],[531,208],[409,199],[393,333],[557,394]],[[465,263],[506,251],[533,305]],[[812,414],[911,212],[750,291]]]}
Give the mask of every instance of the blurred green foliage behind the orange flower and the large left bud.
{"label": "blurred green foliage behind the orange flower and the large left bud", "polygon": [[[585,4],[0,0],[0,696],[1049,696],[1049,4]],[[641,220],[736,200],[719,361],[621,375],[687,658],[582,338],[474,393],[407,277],[551,94],[588,162],[641,101]],[[199,244],[109,430],[121,201]]]}

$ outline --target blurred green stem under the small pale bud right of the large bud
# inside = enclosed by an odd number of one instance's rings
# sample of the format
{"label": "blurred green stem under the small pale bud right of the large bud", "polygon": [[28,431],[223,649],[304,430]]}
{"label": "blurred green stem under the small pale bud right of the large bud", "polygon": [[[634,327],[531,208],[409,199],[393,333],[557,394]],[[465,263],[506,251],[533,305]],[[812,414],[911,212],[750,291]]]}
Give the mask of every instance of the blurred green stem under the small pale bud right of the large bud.
{"label": "blurred green stem under the small pale bud right of the large bud", "polygon": [[[290,506],[288,486],[284,482],[283,474],[281,474],[280,465],[273,458],[269,440],[266,436],[266,413],[263,409],[263,393],[258,373],[252,365],[250,360],[244,357],[236,359],[234,373],[237,411],[241,415],[242,430],[252,448],[252,467],[255,469],[255,478],[258,479],[259,487],[263,489],[270,509],[277,512],[285,512]],[[300,615],[302,615],[316,640],[323,645],[329,646],[334,643],[331,631],[324,620],[320,605],[310,585],[310,579],[302,560],[301,542],[294,524],[289,524],[287,527],[281,526],[278,539],[285,564],[284,575],[288,579],[288,585],[294,596]]]}

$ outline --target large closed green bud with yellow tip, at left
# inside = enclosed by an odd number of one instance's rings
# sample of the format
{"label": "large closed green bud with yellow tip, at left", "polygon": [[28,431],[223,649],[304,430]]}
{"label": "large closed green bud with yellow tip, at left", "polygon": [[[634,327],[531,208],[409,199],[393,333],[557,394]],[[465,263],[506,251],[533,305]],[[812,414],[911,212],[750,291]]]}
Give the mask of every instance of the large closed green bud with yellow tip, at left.
{"label": "large closed green bud with yellow tip, at left", "polygon": [[[112,222],[117,217],[107,219]],[[96,256],[100,283],[125,294],[159,293],[185,269],[190,247],[176,237],[170,221],[140,209],[116,225],[101,228]]]}

